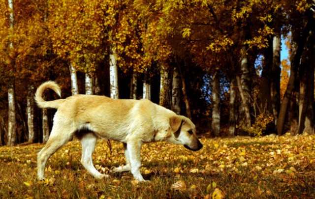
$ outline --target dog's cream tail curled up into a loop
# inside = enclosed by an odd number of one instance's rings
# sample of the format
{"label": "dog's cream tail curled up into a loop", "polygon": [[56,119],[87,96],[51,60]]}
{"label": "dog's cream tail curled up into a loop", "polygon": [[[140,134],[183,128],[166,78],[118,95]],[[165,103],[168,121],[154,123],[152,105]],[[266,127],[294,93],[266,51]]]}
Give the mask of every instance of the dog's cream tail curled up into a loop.
{"label": "dog's cream tail curled up into a loop", "polygon": [[36,101],[38,107],[40,107],[42,109],[46,109],[46,108],[58,109],[63,104],[65,99],[58,99],[58,100],[54,100],[54,101],[45,101],[43,99],[42,95],[47,88],[54,90],[61,97],[61,89],[60,89],[59,85],[57,85],[53,81],[45,82],[37,88],[36,93],[35,93],[35,101]]}

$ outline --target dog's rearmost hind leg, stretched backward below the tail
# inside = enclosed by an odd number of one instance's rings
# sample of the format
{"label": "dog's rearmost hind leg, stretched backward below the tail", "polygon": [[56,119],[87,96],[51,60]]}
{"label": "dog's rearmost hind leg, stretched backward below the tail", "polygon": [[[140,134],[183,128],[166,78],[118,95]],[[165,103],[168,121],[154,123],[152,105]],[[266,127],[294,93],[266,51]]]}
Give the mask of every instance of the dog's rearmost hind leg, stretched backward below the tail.
{"label": "dog's rearmost hind leg, stretched backward below the tail", "polygon": [[[64,128],[64,125],[53,126],[46,145],[39,151],[37,155],[38,180],[45,179],[45,166],[49,157],[72,138],[73,133],[70,133],[70,130],[71,129],[69,128]],[[74,130],[72,130],[72,132],[74,132]]]}

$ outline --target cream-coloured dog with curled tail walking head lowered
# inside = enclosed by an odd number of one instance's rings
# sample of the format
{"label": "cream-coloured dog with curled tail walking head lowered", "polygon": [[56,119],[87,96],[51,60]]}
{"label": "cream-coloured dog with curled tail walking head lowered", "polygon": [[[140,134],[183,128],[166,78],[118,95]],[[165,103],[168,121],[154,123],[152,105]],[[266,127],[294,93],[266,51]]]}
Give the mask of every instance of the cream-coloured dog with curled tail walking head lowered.
{"label": "cream-coloured dog with curled tail walking head lowered", "polygon": [[114,167],[112,171],[131,171],[133,177],[139,181],[144,181],[140,174],[140,148],[143,143],[166,141],[183,144],[190,150],[202,148],[196,137],[195,125],[189,118],[177,115],[149,100],[74,95],[66,99],[45,101],[42,94],[47,88],[61,96],[60,87],[51,81],[40,85],[35,94],[35,101],[40,108],[58,109],[49,140],[38,153],[39,180],[45,179],[48,158],[74,135],[82,144],[82,165],[96,178],[108,177],[99,173],[92,163],[98,137],[124,143],[126,165]]}

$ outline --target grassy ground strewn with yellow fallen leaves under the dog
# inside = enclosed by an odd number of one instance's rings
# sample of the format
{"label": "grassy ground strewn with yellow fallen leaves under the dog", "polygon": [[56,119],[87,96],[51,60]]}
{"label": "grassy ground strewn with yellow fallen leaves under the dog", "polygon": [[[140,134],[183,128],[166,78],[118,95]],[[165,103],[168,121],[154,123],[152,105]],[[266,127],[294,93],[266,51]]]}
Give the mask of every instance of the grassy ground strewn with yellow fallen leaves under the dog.
{"label": "grassy ground strewn with yellow fallen leaves under the dog", "polygon": [[[0,147],[0,198],[203,199],[219,189],[225,198],[315,198],[315,136],[206,139],[197,152],[168,143],[145,144],[141,173],[109,173],[97,180],[80,164],[80,142],[57,151],[36,180],[42,144]],[[122,144],[99,141],[93,156],[102,173],[124,164]],[[11,150],[12,149],[12,150]],[[177,189],[173,184],[182,181]]]}

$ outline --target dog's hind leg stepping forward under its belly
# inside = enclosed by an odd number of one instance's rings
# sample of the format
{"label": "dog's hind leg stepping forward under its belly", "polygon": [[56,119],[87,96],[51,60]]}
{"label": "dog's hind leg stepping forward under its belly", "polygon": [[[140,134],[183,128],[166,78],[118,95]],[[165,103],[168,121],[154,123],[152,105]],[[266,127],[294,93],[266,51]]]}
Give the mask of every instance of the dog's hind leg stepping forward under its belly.
{"label": "dog's hind leg stepping forward under its belly", "polygon": [[81,163],[83,167],[88,170],[95,178],[108,177],[108,175],[98,172],[92,162],[92,154],[95,149],[96,136],[93,133],[87,133],[81,138],[82,158]]}

